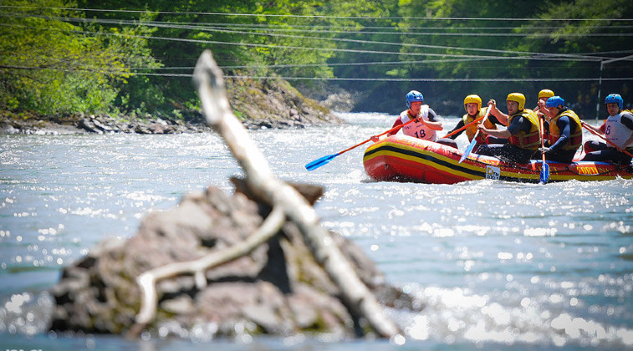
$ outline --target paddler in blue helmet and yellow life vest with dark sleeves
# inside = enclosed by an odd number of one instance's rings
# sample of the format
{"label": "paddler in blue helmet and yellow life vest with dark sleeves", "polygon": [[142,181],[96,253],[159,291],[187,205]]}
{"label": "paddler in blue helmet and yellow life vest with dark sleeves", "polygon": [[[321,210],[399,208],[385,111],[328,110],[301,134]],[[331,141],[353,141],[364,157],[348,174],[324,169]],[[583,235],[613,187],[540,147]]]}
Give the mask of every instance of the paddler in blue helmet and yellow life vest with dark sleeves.
{"label": "paddler in blue helmet and yellow life vest with dark sleeves", "polygon": [[545,154],[545,159],[568,164],[582,145],[580,118],[565,107],[565,100],[558,95],[548,98],[545,107],[545,119],[549,122],[547,139],[551,146],[539,147],[539,151]]}

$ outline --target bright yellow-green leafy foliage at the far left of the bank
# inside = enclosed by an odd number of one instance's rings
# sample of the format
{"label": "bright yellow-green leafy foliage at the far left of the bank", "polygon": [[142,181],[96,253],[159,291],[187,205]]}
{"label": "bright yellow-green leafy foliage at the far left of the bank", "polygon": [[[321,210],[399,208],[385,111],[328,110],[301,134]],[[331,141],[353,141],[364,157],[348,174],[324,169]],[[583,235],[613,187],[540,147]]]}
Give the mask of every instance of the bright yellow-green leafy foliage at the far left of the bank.
{"label": "bright yellow-green leafy foliage at the far left of the bank", "polygon": [[64,22],[80,16],[60,0],[3,1],[0,27],[0,104],[42,113],[106,110],[115,96],[110,74],[123,65],[98,38]]}

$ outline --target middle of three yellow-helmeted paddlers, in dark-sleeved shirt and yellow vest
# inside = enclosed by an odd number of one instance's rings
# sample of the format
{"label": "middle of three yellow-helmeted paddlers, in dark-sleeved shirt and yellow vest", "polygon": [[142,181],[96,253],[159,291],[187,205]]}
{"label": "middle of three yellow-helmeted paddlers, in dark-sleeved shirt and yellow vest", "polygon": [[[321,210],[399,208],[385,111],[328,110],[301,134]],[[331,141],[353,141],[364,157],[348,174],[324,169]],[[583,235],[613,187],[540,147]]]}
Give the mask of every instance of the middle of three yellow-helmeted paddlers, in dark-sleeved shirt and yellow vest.
{"label": "middle of three yellow-helmeted paddlers, in dark-sleeved shirt and yellow vest", "polygon": [[490,114],[497,117],[498,121],[508,126],[507,129],[490,129],[485,125],[478,126],[481,133],[491,135],[495,138],[507,138],[507,144],[482,145],[477,150],[478,154],[495,156],[504,161],[513,161],[525,164],[530,161],[541,146],[541,135],[539,132],[539,117],[534,111],[525,108],[525,95],[522,93],[509,93],[506,98],[508,108],[507,119],[497,108],[497,101],[491,99]]}

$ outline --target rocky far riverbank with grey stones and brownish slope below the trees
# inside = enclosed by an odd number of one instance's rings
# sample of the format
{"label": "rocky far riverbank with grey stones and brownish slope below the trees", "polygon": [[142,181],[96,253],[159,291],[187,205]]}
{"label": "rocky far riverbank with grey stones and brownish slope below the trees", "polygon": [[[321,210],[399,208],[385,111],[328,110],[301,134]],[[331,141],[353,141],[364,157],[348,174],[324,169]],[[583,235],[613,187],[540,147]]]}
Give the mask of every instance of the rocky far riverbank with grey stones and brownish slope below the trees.
{"label": "rocky far riverbank with grey stones and brownish slope below the trees", "polygon": [[[279,79],[227,79],[229,103],[248,129],[305,128],[343,123],[328,107],[306,98]],[[174,134],[210,131],[197,110],[175,109],[156,114],[39,114],[34,111],[0,111],[0,133]]]}

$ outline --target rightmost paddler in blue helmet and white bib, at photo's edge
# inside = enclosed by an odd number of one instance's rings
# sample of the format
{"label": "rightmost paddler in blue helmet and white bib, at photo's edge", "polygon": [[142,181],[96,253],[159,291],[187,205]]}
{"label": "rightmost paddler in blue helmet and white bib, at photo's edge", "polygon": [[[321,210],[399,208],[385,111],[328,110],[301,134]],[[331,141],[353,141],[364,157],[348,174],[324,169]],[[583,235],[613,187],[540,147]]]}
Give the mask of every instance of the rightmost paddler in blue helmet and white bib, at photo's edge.
{"label": "rightmost paddler in blue helmet and white bib, at photo's edge", "polygon": [[625,154],[633,154],[633,114],[624,108],[624,100],[620,94],[609,94],[604,99],[609,117],[604,120],[600,128],[584,124],[592,131],[603,134],[606,140],[615,144],[606,144],[598,141],[585,143],[587,154],[583,161],[605,161],[620,164],[629,164],[631,157]]}

